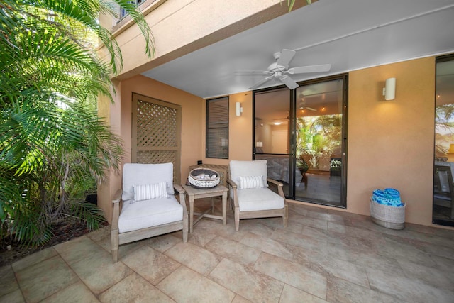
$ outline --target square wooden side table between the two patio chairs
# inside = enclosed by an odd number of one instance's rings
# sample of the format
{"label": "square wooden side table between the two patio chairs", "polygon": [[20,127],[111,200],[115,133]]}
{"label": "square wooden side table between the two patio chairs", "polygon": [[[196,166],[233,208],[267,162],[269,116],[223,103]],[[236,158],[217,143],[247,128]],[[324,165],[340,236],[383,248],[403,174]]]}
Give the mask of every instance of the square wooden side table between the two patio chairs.
{"label": "square wooden side table between the two patio chairs", "polygon": [[[187,197],[189,197],[189,233],[192,233],[192,228],[194,224],[199,222],[204,217],[222,220],[223,225],[227,224],[227,192],[228,192],[227,187],[223,185],[218,185],[216,187],[209,189],[196,189],[190,185],[185,184],[182,184],[182,187],[184,188]],[[211,209],[208,209],[203,214],[195,213],[195,215],[199,217],[194,222],[194,200],[218,196],[222,196],[222,216],[216,216],[213,214],[214,205],[213,202],[211,202]],[[211,214],[209,214],[209,211],[211,211]]]}

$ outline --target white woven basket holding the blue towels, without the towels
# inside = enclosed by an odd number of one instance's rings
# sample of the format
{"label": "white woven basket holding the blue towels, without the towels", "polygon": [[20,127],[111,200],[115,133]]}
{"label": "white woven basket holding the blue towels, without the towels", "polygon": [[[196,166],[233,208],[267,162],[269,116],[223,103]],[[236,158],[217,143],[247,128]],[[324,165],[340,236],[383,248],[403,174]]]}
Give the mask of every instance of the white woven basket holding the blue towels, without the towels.
{"label": "white woven basket holding the blue towels, without the towels", "polygon": [[394,207],[383,205],[370,199],[370,216],[375,224],[391,229],[404,229],[405,227],[405,203],[404,206]]}

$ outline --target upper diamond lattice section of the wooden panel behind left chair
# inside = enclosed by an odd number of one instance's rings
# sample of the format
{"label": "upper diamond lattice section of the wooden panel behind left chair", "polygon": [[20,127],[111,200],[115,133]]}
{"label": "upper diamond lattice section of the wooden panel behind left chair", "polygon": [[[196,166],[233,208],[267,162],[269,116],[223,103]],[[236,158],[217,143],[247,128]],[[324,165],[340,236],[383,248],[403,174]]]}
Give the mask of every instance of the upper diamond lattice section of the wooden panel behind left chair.
{"label": "upper diamond lattice section of the wooden panel behind left chair", "polygon": [[177,147],[177,109],[138,100],[138,147]]}

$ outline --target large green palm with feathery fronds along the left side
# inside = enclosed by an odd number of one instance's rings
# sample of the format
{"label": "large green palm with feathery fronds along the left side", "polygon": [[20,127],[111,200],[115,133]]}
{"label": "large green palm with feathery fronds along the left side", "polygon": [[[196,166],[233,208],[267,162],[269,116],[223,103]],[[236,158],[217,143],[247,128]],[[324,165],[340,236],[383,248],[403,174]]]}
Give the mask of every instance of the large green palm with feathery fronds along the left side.
{"label": "large green palm with feathery fronds along the left side", "polygon": [[[135,5],[114,2],[136,21],[153,55],[150,28]],[[99,94],[113,100],[110,79],[123,61],[98,17],[116,11],[101,0],[0,2],[0,236],[40,244],[64,216],[88,228],[104,220],[83,202],[84,191],[118,170],[123,150],[87,104]],[[106,46],[109,62],[97,57],[89,35]]]}

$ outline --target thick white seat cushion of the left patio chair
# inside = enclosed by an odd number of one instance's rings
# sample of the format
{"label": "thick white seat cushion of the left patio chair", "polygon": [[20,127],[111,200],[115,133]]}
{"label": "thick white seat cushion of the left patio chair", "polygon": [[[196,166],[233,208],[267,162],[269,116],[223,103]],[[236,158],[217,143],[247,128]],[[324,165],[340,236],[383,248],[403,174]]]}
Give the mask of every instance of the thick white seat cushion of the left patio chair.
{"label": "thick white seat cushion of the left patio chair", "polygon": [[182,221],[183,206],[175,197],[123,202],[118,218],[118,232],[136,231],[151,226],[158,226],[175,221]]}

